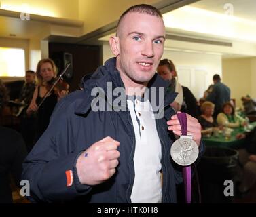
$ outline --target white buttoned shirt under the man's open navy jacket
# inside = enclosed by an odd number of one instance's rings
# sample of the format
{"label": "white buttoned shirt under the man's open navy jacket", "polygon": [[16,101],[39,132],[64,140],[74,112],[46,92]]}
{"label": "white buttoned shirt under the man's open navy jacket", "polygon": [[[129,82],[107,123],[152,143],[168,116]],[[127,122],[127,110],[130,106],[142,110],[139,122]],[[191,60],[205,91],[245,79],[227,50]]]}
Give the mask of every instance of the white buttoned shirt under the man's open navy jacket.
{"label": "white buttoned shirt under the man's open navy jacket", "polygon": [[161,203],[161,143],[149,100],[127,100],[136,136],[132,203]]}

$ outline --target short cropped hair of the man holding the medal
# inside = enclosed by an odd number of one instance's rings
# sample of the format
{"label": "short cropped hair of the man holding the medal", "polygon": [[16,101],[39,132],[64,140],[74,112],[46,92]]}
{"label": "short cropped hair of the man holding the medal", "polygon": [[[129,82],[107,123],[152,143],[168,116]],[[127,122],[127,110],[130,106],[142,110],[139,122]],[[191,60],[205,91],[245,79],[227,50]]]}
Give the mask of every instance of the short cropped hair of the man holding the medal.
{"label": "short cropped hair of the man holding the medal", "polygon": [[151,5],[146,5],[146,4],[141,4],[141,5],[134,5],[128,9],[126,9],[126,11],[120,16],[118,23],[117,23],[117,35],[118,35],[118,29],[120,26],[120,23],[122,22],[124,16],[126,16],[126,14],[128,14],[129,12],[132,13],[141,13],[141,14],[149,14],[151,16],[156,16],[159,18],[163,18],[162,13],[156,9],[156,7],[153,7]]}

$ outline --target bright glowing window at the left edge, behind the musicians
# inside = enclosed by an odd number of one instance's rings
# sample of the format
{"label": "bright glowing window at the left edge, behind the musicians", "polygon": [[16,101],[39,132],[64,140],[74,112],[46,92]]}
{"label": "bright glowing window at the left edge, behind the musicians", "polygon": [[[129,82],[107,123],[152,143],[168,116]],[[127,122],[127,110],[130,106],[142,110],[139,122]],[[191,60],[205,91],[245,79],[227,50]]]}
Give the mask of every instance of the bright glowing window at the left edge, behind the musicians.
{"label": "bright glowing window at the left edge, behind the musicians", "polygon": [[24,49],[0,47],[0,76],[25,76]]}

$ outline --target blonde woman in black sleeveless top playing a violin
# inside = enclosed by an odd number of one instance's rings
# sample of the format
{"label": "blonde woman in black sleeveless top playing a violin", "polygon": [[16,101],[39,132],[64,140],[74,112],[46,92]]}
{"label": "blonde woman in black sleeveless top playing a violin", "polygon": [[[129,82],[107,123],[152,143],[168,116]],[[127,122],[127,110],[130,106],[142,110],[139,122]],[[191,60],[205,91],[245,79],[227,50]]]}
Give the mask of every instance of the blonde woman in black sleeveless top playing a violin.
{"label": "blonde woman in black sleeveless top playing a violin", "polygon": [[[54,78],[56,77],[56,66],[51,59],[42,59],[37,64],[37,79],[38,85],[35,88],[31,104],[26,110],[28,115],[37,111],[37,138],[43,134],[48,127],[50,116],[58,100],[68,94],[69,85],[66,85],[65,90],[56,90],[49,92]],[[43,100],[43,103],[41,104]],[[39,106],[40,105],[40,106]]]}

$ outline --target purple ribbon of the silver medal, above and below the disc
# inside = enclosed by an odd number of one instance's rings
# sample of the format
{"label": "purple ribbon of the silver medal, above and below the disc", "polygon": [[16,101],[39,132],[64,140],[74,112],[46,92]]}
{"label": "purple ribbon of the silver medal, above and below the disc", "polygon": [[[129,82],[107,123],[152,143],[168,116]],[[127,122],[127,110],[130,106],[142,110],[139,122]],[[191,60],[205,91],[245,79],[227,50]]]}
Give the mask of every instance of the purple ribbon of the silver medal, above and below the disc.
{"label": "purple ribbon of the silver medal, above and below the disc", "polygon": [[[179,123],[181,124],[181,135],[187,136],[187,115],[186,113],[177,113]],[[186,203],[191,203],[191,166],[182,168],[185,187]]]}

